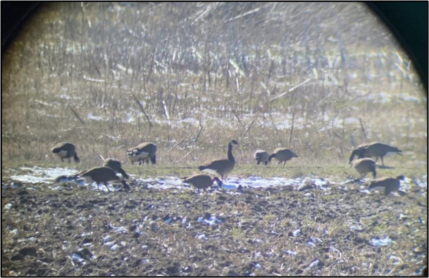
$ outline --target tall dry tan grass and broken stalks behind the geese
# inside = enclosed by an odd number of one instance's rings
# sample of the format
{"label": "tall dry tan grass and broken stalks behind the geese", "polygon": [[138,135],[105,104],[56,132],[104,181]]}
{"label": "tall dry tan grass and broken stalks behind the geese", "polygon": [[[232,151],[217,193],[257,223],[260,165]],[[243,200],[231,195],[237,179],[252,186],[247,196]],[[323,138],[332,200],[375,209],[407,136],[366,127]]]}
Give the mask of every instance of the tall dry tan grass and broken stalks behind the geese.
{"label": "tall dry tan grass and broken stalks behind the geese", "polygon": [[50,2],[1,63],[2,163],[58,162],[61,141],[126,161],[152,141],[192,164],[236,139],[237,163],[278,146],[346,163],[380,141],[427,165],[425,86],[363,3]]}

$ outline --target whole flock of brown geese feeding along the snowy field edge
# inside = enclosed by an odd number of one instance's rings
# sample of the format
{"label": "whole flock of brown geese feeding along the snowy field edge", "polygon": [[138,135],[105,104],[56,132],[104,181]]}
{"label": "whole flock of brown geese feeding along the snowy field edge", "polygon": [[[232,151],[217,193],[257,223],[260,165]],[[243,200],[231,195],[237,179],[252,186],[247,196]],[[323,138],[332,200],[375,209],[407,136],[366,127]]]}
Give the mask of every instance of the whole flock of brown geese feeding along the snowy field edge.
{"label": "whole flock of brown geese feeding along the snowy field edge", "polygon": [[[209,164],[198,167],[198,170],[211,174],[214,176],[213,178],[211,175],[197,173],[190,177],[182,178],[184,182],[196,187],[198,192],[200,192],[200,189],[206,190],[212,186],[214,182],[216,182],[220,188],[222,186],[223,176],[230,173],[234,169],[235,159],[232,155],[232,147],[235,145],[238,145],[237,141],[231,140],[229,142],[226,159],[214,160]],[[72,143],[59,143],[52,148],[52,152],[58,155],[62,161],[64,161],[64,159],[68,159],[68,162],[70,162],[72,157],[76,163],[80,161],[76,153],[76,147]],[[139,165],[144,164],[145,162],[149,164],[149,161],[151,161],[152,164],[156,164],[156,152],[157,146],[154,143],[144,142],[137,145],[136,147],[128,149],[127,157],[132,164],[134,164],[134,162],[138,162]],[[375,179],[377,175],[376,162],[380,157],[383,167],[385,167],[383,157],[387,153],[392,152],[401,155],[402,151],[396,147],[379,142],[361,144],[353,150],[349,158],[349,163],[359,174],[361,174],[361,178],[365,177],[368,173],[372,173],[374,180],[370,182],[369,187],[382,187],[384,188],[385,194],[388,195],[392,191],[399,190],[400,180],[403,180],[404,176],[398,176],[396,178]],[[357,159],[354,159],[355,156]],[[293,151],[286,148],[277,148],[271,155],[269,155],[264,150],[257,150],[254,153],[254,159],[256,160],[257,165],[267,165],[268,162],[271,162],[272,158],[275,158],[278,160],[278,164],[283,162],[283,168],[285,167],[286,161],[294,157],[298,156]],[[376,160],[374,161],[370,157],[375,157]],[[117,173],[119,173],[120,176],[118,176]],[[219,176],[221,179],[218,178]],[[110,189],[107,186],[107,182],[120,181],[126,190],[130,190],[130,187],[125,182],[125,179],[128,179],[129,176],[127,173],[125,173],[124,169],[122,169],[121,162],[113,158],[104,159],[104,164],[102,167],[94,167],[73,176],[73,178],[77,177],[82,177],[91,182],[96,182],[97,188],[99,188],[100,183],[103,183],[108,191],[110,191]]]}

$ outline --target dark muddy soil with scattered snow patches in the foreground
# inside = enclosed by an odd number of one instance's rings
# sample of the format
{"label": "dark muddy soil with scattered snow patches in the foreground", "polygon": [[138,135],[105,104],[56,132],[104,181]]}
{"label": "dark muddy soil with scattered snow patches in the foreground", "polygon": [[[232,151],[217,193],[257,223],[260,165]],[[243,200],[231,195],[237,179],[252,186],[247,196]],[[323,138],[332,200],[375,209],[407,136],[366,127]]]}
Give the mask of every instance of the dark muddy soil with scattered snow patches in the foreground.
{"label": "dark muddy soil with scattered snow patches in the foreground", "polygon": [[[120,185],[117,185],[118,187]],[[427,273],[427,189],[97,191],[2,182],[2,276]]]}

